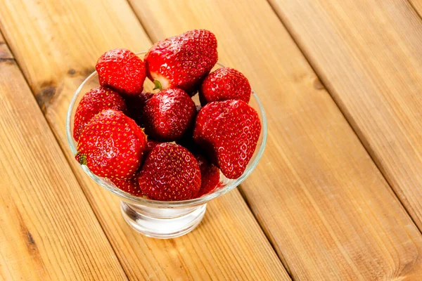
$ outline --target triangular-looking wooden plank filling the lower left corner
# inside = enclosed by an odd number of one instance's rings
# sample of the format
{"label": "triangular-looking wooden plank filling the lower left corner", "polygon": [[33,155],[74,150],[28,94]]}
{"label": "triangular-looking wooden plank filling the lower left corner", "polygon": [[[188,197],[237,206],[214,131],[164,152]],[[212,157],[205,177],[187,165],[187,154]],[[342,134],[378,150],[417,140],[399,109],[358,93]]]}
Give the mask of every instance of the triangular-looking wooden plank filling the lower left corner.
{"label": "triangular-looking wooden plank filling the lower left corner", "polygon": [[0,34],[0,279],[127,280]]}

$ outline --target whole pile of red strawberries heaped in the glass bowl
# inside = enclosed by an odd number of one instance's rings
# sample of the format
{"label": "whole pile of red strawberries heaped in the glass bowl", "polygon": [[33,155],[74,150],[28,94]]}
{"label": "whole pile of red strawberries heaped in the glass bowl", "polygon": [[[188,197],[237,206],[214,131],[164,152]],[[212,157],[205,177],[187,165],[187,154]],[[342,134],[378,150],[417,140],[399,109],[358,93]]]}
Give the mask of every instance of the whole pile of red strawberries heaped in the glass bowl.
{"label": "whole pile of red strawberries heaped in the glass bowl", "polygon": [[[101,55],[101,86],[85,93],[73,136],[80,164],[117,188],[151,200],[188,200],[238,178],[261,132],[241,72],[217,63],[217,39],[191,30],[159,41],[141,60],[132,51]],[[143,92],[146,77],[158,93]],[[200,106],[192,100],[199,94]]]}

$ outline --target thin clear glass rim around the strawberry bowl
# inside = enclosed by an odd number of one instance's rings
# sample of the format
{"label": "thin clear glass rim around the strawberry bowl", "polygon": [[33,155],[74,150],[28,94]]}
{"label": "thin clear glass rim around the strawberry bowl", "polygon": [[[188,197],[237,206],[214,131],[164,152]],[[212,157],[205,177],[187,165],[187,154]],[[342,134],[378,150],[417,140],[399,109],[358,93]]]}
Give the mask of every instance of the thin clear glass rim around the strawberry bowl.
{"label": "thin clear glass rim around the strawberry bowl", "polygon": [[[146,53],[146,51],[143,51],[143,52],[136,53],[136,55],[144,55],[145,53]],[[222,65],[222,63],[217,62],[217,65],[224,67],[224,65]],[[77,153],[77,148],[75,147],[72,132],[70,131],[71,130],[70,120],[72,118],[72,111],[73,111],[73,108],[75,107],[76,100],[77,100],[79,94],[82,91],[82,88],[84,87],[85,84],[87,84],[87,82],[92,77],[94,77],[94,75],[96,73],[97,72],[94,70],[94,72],[89,74],[88,77],[85,78],[84,81],[82,81],[82,83],[79,85],[79,87],[77,88],[77,90],[73,94],[72,100],[70,100],[70,104],[69,104],[68,112],[67,112],[67,116],[66,116],[66,136],[68,138],[68,144],[70,146],[70,151],[72,152],[72,155],[76,155],[76,153]],[[145,197],[136,197],[134,195],[131,195],[131,194],[124,192],[123,190],[120,190],[119,188],[115,187],[113,185],[113,183],[111,183],[108,179],[96,176],[95,174],[93,174],[88,169],[88,166],[82,165],[82,164],[79,164],[79,166],[81,166],[82,169],[85,171],[85,173],[88,174],[88,176],[90,178],[92,178],[96,183],[101,185],[106,190],[115,193],[115,195],[122,197],[122,200],[124,200],[125,202],[130,202],[130,203],[134,203],[134,204],[149,205],[149,206],[155,206],[155,207],[191,207],[191,206],[196,206],[196,205],[199,205],[199,204],[204,204],[205,202],[213,200],[213,199],[215,199],[215,198],[217,198],[221,195],[224,195],[225,193],[227,193],[230,190],[236,188],[236,186],[238,186],[243,181],[245,181],[245,179],[248,178],[248,176],[255,169],[258,162],[260,162],[262,154],[264,153],[265,145],[267,144],[267,116],[265,115],[264,107],[262,106],[260,98],[257,96],[255,91],[253,91],[253,89],[252,89],[252,95],[251,96],[253,96],[253,98],[255,98],[255,101],[256,101],[259,109],[260,109],[260,115],[262,117],[262,142],[261,142],[260,148],[258,148],[257,154],[255,155],[255,158],[253,158],[252,162],[250,164],[248,164],[248,167],[245,169],[245,171],[243,172],[243,174],[240,177],[232,180],[231,182],[227,183],[226,186],[224,186],[222,188],[218,188],[217,190],[215,190],[214,192],[212,192],[210,194],[207,194],[207,195],[204,195],[204,196],[198,197],[198,198],[193,198],[193,199],[189,199],[189,200],[180,200],[180,201],[160,201],[160,200],[147,199]]]}

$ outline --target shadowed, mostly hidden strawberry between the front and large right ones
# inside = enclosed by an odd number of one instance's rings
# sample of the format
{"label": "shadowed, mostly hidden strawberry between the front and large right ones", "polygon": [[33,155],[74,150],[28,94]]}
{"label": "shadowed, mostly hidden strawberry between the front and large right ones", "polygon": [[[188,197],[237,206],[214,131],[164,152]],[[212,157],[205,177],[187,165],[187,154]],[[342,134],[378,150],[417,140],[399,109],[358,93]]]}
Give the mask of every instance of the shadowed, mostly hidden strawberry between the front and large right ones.
{"label": "shadowed, mostly hidden strawberry between the front and large right ones", "polygon": [[219,169],[214,164],[210,164],[205,157],[197,155],[200,169],[200,190],[196,197],[201,197],[213,192],[220,186]]}

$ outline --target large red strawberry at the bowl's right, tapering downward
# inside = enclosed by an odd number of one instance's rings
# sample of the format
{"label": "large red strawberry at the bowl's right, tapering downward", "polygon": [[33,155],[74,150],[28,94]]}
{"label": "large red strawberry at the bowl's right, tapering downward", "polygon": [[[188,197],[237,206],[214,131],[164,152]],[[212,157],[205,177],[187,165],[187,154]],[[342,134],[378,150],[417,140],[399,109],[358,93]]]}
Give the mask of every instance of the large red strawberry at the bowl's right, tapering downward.
{"label": "large red strawberry at the bowl's right, tapering downward", "polygon": [[198,113],[193,138],[227,178],[245,171],[260,137],[257,112],[243,100],[208,103]]}

